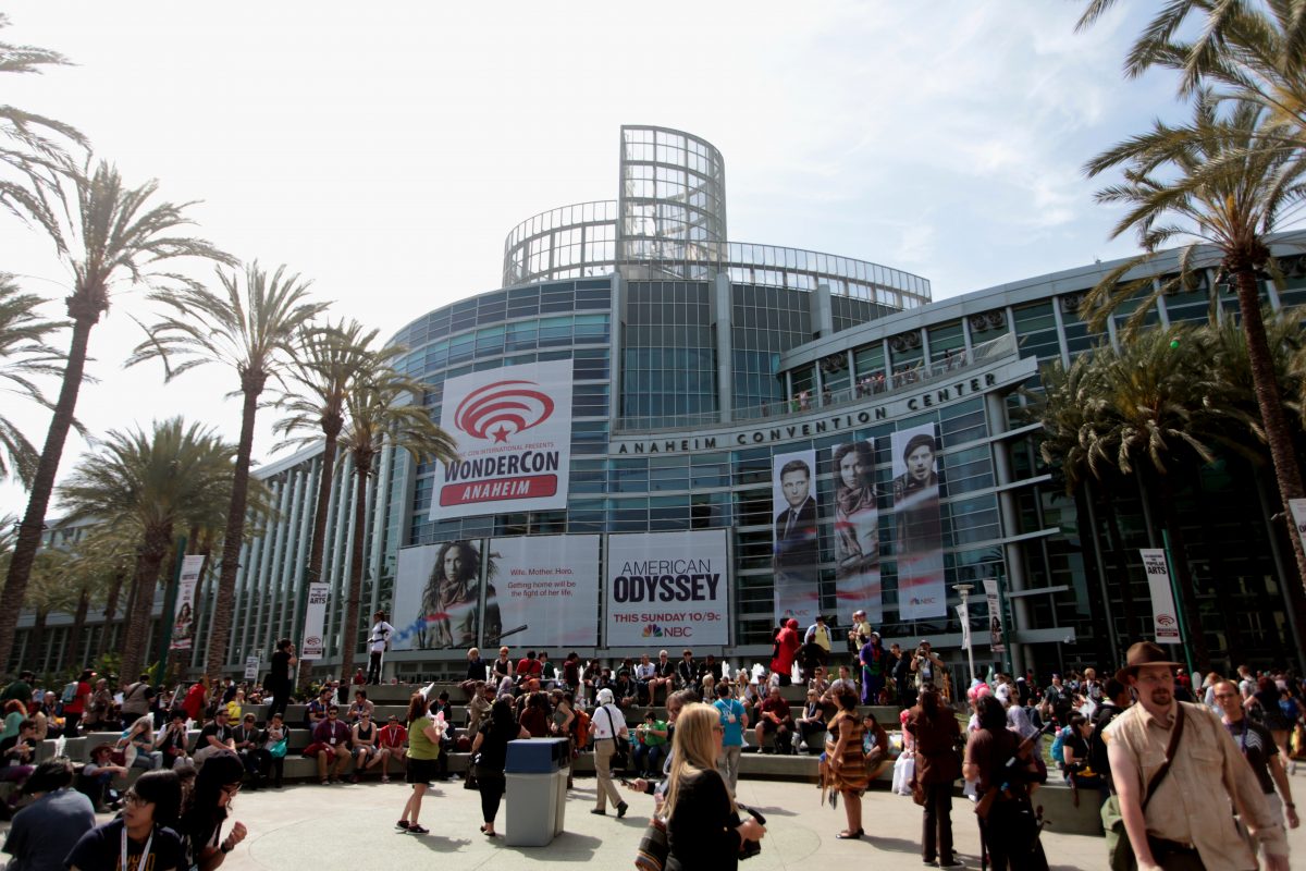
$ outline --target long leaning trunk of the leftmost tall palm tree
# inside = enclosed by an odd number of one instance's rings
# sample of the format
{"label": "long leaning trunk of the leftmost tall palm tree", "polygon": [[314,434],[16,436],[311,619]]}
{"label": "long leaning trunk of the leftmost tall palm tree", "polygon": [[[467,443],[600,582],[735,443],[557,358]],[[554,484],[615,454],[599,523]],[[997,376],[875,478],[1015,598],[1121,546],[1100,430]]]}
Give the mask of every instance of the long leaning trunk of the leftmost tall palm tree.
{"label": "long leaning trunk of the leftmost tall palm tree", "polygon": [[68,346],[68,362],[64,366],[64,380],[59,388],[59,401],[46,432],[46,445],[40,451],[40,462],[31,481],[31,496],[27,511],[18,525],[18,541],[14,542],[5,577],[0,592],[0,666],[9,662],[13,653],[13,636],[18,628],[18,612],[27,594],[27,580],[31,577],[31,564],[40,548],[40,533],[46,528],[46,509],[50,495],[55,490],[55,474],[68,441],[68,430],[73,424],[77,409],[77,393],[81,390],[82,372],[86,368],[86,346],[90,342],[90,328],[99,320],[99,311],[82,312],[77,306],[78,295],[68,298],[68,313],[73,319],[73,336]]}

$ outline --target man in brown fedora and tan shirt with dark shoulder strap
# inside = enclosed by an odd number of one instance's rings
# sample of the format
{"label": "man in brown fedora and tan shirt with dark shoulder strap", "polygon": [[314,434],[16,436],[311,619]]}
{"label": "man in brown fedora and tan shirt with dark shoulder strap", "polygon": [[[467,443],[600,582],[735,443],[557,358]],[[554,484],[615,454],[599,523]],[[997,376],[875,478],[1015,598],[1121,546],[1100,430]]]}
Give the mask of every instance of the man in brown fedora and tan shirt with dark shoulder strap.
{"label": "man in brown fedora and tan shirt with dark shoulder strap", "polygon": [[1138,704],[1104,733],[1139,870],[1259,867],[1234,825],[1232,803],[1264,846],[1266,867],[1286,871],[1284,829],[1233,738],[1205,705],[1175,701],[1178,665],[1151,641],[1131,646],[1115,676]]}

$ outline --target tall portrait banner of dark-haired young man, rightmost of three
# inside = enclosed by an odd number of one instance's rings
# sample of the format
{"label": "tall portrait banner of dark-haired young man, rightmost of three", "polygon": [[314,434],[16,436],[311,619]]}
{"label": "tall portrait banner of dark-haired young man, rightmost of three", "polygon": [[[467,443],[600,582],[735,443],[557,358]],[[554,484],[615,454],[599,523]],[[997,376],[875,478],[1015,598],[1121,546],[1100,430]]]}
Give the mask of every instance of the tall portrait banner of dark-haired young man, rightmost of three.
{"label": "tall portrait banner of dark-haired young man, rightmost of three", "polygon": [[939,440],[934,424],[900,430],[891,444],[899,615],[904,620],[944,616],[948,605],[939,517]]}

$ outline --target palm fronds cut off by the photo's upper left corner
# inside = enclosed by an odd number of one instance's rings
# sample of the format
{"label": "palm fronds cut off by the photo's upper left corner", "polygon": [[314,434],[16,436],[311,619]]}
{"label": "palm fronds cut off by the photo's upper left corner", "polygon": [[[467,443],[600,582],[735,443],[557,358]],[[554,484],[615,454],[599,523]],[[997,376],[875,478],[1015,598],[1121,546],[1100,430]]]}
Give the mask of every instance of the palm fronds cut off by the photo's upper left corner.
{"label": "palm fronds cut off by the photo's upper left corner", "polygon": [[[0,13],[0,30],[9,16]],[[67,65],[57,51],[0,42],[0,72],[40,74],[46,67]],[[76,174],[65,142],[88,148],[77,128],[52,118],[0,106],[0,205],[26,222],[35,222],[60,243],[63,232],[51,195],[63,195],[64,184]]]}

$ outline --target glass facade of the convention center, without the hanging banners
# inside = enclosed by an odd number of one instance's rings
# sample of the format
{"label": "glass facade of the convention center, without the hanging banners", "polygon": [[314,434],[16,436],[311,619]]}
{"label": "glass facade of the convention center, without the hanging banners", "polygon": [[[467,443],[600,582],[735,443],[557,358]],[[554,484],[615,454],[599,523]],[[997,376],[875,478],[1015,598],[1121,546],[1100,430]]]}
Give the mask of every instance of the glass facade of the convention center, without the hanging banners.
{"label": "glass facade of the convention center, without the hanging banners", "polygon": [[[724,242],[720,154],[710,146],[705,151],[700,140],[662,137],[658,129],[623,128],[623,174],[631,170],[628,179],[623,175],[629,182],[623,188],[632,205],[628,213],[577,206],[579,212],[537,215],[539,221],[533,218],[509,236],[503,289],[422,315],[392,340],[406,349],[400,360],[404,371],[428,385],[422,402],[435,419],[447,379],[571,360],[565,508],[435,520],[434,470],[387,452],[368,484],[364,529],[355,530],[353,477],[345,464],[328,517],[325,576],[333,603],[320,667],[330,671],[338,662],[341,639],[363,653],[360,627],[341,626],[354,535],[364,537],[362,611],[370,614],[392,603],[397,554],[407,546],[454,538],[725,529],[731,615],[730,644],[720,653],[764,657],[776,620],[772,464],[777,454],[806,449],[820,458],[812,481],[821,505],[819,605],[846,623],[852,607],[836,589],[836,533],[828,511],[836,482],[827,458],[833,447],[866,439],[875,447],[870,474],[878,494],[885,615],[879,629],[885,640],[914,644],[930,637],[951,663],[963,662],[952,588],[972,584],[976,659],[986,662],[987,622],[980,597],[986,580],[1003,594],[1010,649],[1004,665],[1040,674],[1101,665],[1118,659],[1130,640],[1148,636],[1151,605],[1138,548],[1157,546],[1145,522],[1157,509],[1156,495],[1139,487],[1105,499],[1088,487],[1067,496],[1040,457],[1037,428],[1021,417],[1028,401],[1023,390],[1038,389],[1040,364],[1119,341],[1121,323],[1094,334],[1077,315],[1084,293],[1115,264],[919,306],[929,299],[929,285],[906,273]],[[652,138],[644,131],[653,131]],[[648,167],[652,176],[644,172]],[[660,167],[679,167],[686,175],[662,179]],[[658,187],[662,180],[670,187]],[[649,198],[645,195],[687,198],[692,208],[635,209]],[[626,264],[618,244],[622,234],[635,234],[645,221],[656,229],[649,232],[666,235],[670,247],[662,240],[637,245],[645,261]],[[579,240],[559,235],[577,223]],[[596,249],[590,259],[589,229],[601,226],[614,227],[614,234],[594,239],[613,247]],[[640,236],[640,245],[650,242],[649,232]],[[1302,238],[1306,234],[1292,240],[1299,244]],[[703,251],[716,245],[729,256],[713,270],[690,277],[682,266],[700,243]],[[654,261],[663,255],[670,260],[661,270]],[[1284,259],[1282,290],[1267,286],[1271,306],[1306,302],[1306,260],[1293,257]],[[1158,257],[1158,274],[1173,269],[1173,260]],[[584,272],[585,262],[602,274]],[[640,272],[649,264],[661,274]],[[569,269],[581,272],[564,277]],[[1196,321],[1209,309],[1207,289],[1195,287],[1164,298],[1148,323]],[[891,436],[921,426],[934,427],[940,448],[949,607],[936,619],[902,620]],[[320,449],[256,471],[272,488],[279,515],[251,535],[242,554],[236,631],[229,648],[232,670],[255,650],[270,650],[277,637],[296,636],[320,471]],[[1296,649],[1281,606],[1285,548],[1275,539],[1267,494],[1272,498],[1272,482],[1238,457],[1174,482],[1181,526],[1175,547],[1194,569],[1203,636],[1217,662],[1233,650],[1252,665],[1280,662]],[[212,601],[201,602],[201,614],[210,606]],[[30,626],[30,616],[24,620]],[[52,628],[57,632],[57,622]],[[208,632],[202,616],[199,632],[201,639]],[[605,649],[594,653],[610,656]],[[462,656],[461,650],[401,652],[389,659],[404,675],[414,675],[451,673]],[[960,671],[956,676],[963,678]]]}

